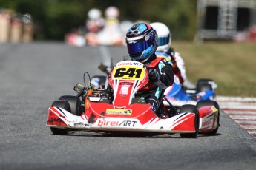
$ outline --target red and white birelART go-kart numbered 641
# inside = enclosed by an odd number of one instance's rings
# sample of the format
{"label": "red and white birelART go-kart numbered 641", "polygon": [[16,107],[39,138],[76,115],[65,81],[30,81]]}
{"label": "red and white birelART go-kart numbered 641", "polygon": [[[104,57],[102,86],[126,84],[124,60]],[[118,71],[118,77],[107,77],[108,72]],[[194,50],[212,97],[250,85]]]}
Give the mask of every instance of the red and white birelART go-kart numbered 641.
{"label": "red and white birelART go-kart numbered 641", "polygon": [[[85,76],[85,75],[84,75]],[[198,101],[181,106],[180,112],[162,103],[157,113],[140,96],[148,84],[148,69],[137,61],[121,61],[112,69],[108,86],[94,90],[76,84],[76,96],[64,95],[48,109],[47,126],[54,135],[89,130],[105,133],[178,133],[197,137],[198,132],[215,135],[220,111],[216,101]],[[165,98],[165,101],[168,101]]]}

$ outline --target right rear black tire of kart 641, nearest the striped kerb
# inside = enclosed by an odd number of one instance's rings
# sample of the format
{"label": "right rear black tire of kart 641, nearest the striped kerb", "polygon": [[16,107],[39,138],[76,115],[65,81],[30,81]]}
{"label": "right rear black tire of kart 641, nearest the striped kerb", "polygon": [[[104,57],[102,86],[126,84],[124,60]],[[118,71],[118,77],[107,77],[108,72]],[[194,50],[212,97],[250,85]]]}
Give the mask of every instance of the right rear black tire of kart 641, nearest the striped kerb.
{"label": "right rear black tire of kart 641, nearest the striped kerb", "polygon": [[218,110],[218,115],[217,115],[217,127],[216,129],[213,129],[212,132],[206,133],[207,135],[216,135],[217,131],[220,127],[220,106],[217,103],[217,101],[211,101],[211,100],[201,100],[197,101],[197,109],[203,107],[203,106],[214,106]]}

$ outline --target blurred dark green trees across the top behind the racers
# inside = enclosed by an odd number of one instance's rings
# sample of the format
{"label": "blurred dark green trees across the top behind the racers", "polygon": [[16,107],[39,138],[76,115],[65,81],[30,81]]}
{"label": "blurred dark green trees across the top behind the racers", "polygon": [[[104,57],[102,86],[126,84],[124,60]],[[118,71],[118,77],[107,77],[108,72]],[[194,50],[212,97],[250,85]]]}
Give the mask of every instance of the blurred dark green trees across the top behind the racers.
{"label": "blurred dark green trees across the top behind the racers", "polygon": [[116,6],[120,20],[160,21],[174,39],[193,39],[197,29],[197,0],[0,0],[0,7],[30,13],[36,24],[36,39],[63,40],[65,33],[84,26],[88,10]]}

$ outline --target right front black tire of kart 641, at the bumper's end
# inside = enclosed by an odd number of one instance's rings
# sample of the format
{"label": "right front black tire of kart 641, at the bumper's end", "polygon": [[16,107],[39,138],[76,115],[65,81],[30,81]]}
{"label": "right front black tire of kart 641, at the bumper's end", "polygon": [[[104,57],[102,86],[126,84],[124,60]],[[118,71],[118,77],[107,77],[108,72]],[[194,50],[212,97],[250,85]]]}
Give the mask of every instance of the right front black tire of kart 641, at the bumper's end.
{"label": "right front black tire of kart 641, at the bumper's end", "polygon": [[199,132],[199,113],[198,113],[197,106],[194,106],[192,104],[183,105],[180,107],[180,113],[183,113],[183,112],[192,112],[195,114],[194,128],[196,129],[196,131],[194,133],[181,133],[180,137],[196,138]]}

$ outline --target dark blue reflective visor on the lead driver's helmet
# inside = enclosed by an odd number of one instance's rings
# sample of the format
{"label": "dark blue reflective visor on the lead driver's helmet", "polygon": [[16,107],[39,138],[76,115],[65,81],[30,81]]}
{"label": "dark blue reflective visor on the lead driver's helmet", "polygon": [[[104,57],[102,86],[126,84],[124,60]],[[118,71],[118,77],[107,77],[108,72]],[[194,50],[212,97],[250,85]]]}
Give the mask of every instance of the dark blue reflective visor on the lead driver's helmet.
{"label": "dark blue reflective visor on the lead driver's helmet", "polygon": [[139,40],[128,41],[126,38],[126,44],[128,48],[129,55],[140,55],[144,52],[148,47],[151,47],[154,41],[149,38],[148,40],[144,40],[144,38]]}

